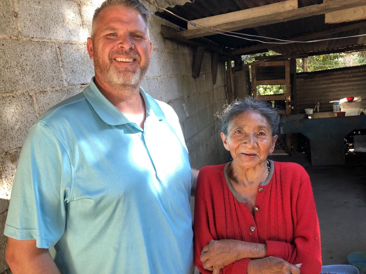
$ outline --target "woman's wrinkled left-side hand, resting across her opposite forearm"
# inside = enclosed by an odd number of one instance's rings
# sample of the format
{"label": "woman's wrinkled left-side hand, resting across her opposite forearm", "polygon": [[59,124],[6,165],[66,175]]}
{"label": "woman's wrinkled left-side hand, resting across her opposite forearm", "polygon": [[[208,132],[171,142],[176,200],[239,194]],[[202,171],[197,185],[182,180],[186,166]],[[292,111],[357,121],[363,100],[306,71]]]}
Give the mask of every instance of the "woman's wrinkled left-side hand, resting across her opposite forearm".
{"label": "woman's wrinkled left-side hand, resting across her opposite forearm", "polygon": [[220,273],[220,269],[239,260],[238,240],[210,240],[203,247],[201,252],[201,262],[204,269]]}

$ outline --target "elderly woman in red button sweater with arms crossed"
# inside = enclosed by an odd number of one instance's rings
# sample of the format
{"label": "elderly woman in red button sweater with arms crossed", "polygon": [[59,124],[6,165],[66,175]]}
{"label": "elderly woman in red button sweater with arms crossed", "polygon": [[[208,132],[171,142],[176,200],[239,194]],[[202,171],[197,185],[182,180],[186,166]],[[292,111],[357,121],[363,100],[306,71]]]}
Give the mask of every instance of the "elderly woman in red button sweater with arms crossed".
{"label": "elderly woman in red button sweater with arms crossed", "polygon": [[232,161],[201,169],[194,210],[194,260],[201,273],[321,271],[320,230],[309,175],[267,159],[280,118],[246,97],[220,115]]}

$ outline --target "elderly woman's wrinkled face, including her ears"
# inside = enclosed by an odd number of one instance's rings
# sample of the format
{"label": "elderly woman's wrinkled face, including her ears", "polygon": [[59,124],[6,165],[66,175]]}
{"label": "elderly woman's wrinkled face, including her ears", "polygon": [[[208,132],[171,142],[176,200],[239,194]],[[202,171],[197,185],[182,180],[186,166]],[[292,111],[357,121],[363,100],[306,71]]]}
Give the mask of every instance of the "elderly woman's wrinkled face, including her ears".
{"label": "elderly woman's wrinkled face, including her ears", "polygon": [[272,129],[264,116],[246,111],[232,118],[227,135],[221,132],[221,139],[235,164],[253,168],[273,152],[277,135],[272,137]]}

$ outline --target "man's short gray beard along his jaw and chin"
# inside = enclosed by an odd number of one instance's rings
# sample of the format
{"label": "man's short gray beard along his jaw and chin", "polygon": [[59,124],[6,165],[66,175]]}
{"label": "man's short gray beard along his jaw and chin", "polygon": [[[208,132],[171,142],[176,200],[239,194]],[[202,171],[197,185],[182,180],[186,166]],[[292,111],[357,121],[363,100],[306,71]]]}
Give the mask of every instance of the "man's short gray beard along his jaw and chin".
{"label": "man's short gray beard along his jaw and chin", "polygon": [[119,86],[139,87],[145,77],[148,66],[149,64],[142,68],[138,66],[136,70],[126,68],[124,71],[117,71],[112,64],[107,68],[103,64],[100,64],[100,62],[96,62],[96,69],[105,81],[111,85]]}

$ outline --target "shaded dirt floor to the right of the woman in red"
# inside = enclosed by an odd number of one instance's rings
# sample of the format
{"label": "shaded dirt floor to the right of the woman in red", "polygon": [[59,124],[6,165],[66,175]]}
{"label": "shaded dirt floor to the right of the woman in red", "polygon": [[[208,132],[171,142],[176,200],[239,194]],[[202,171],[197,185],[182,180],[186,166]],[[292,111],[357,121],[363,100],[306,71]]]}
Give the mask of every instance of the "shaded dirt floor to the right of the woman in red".
{"label": "shaded dirt floor to the right of the woman in red", "polygon": [[269,159],[299,163],[309,173],[320,222],[323,265],[347,264],[348,254],[366,251],[366,153],[347,155],[343,166],[312,166],[305,154]]}

